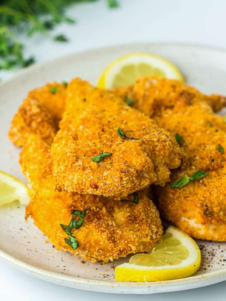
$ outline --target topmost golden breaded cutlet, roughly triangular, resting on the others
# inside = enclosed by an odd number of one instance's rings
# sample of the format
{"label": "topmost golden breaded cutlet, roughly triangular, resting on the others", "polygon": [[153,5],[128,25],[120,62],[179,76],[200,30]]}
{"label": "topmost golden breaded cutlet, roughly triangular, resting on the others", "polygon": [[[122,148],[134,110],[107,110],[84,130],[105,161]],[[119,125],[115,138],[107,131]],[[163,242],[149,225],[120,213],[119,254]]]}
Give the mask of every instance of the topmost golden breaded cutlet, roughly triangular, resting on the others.
{"label": "topmost golden breaded cutlet, roughly triangular, resting on the others", "polygon": [[[122,139],[119,127],[135,139]],[[58,187],[118,199],[152,183],[165,185],[182,157],[175,138],[155,121],[80,79],[68,85],[51,152]],[[93,162],[102,152],[112,155]]]}

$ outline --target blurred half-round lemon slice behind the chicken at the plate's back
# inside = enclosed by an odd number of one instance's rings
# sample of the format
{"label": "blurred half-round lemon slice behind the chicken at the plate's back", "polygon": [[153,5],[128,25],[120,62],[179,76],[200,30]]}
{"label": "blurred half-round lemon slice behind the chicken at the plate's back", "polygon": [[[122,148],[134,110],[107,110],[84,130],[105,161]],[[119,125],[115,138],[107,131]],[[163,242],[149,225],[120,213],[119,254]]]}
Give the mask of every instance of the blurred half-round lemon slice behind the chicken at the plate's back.
{"label": "blurred half-round lemon slice behind the chicken at the plate's back", "polygon": [[140,76],[156,75],[183,81],[178,68],[171,62],[155,54],[135,52],[119,57],[111,62],[101,74],[98,88],[112,89],[132,85]]}

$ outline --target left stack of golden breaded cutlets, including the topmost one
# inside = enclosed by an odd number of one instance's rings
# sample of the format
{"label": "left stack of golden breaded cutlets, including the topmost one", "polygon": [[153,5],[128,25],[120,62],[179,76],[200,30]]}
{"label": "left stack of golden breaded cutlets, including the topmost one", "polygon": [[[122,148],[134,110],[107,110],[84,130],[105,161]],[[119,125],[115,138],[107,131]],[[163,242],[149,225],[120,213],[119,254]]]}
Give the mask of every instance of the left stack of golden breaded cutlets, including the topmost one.
{"label": "left stack of golden breaded cutlets, including the topmost one", "polygon": [[[128,139],[121,131],[121,137],[117,134],[119,127]],[[164,185],[169,168],[178,167],[182,155],[174,137],[153,120],[114,93],[75,79],[67,89],[54,83],[30,92],[14,116],[9,138],[22,146],[20,165],[31,197],[26,218],[31,216],[60,250],[108,262],[149,251],[158,242],[159,212],[147,191],[136,190],[153,182]],[[92,157],[101,152],[112,155],[94,162]],[[102,195],[95,195],[93,174]],[[97,174],[109,183],[98,182]],[[79,176],[82,182],[74,180]],[[119,193],[111,182],[114,177]],[[133,178],[135,185],[130,184]],[[125,197],[119,201],[119,196]]]}

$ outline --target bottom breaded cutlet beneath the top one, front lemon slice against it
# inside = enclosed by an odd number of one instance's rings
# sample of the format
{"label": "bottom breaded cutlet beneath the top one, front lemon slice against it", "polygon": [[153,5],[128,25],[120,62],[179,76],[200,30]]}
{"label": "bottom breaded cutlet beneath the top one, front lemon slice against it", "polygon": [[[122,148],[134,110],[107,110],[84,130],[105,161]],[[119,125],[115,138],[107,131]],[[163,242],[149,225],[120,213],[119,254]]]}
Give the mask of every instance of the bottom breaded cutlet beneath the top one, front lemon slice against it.
{"label": "bottom breaded cutlet beneath the top one, front lemon slice against it", "polygon": [[[91,262],[108,262],[130,253],[149,251],[160,239],[163,231],[159,212],[145,192],[139,193],[136,205],[115,201],[113,197],[55,190],[49,145],[35,134],[30,134],[24,144],[20,164],[31,186],[32,201],[26,208],[26,217],[31,215],[35,225],[60,250],[79,254]],[[68,225],[74,209],[88,207],[81,228],[72,229],[79,242],[79,247],[73,250],[64,242],[67,234],[60,224]]]}

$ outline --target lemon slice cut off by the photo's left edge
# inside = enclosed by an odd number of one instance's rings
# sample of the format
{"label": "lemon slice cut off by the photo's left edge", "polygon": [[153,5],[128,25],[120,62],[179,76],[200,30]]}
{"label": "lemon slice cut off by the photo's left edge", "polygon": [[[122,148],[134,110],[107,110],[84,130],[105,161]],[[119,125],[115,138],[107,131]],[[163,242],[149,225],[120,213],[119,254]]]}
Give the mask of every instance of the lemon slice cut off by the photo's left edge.
{"label": "lemon slice cut off by the photo's left edge", "polygon": [[14,201],[27,205],[30,202],[28,188],[12,175],[0,171],[0,206]]}

